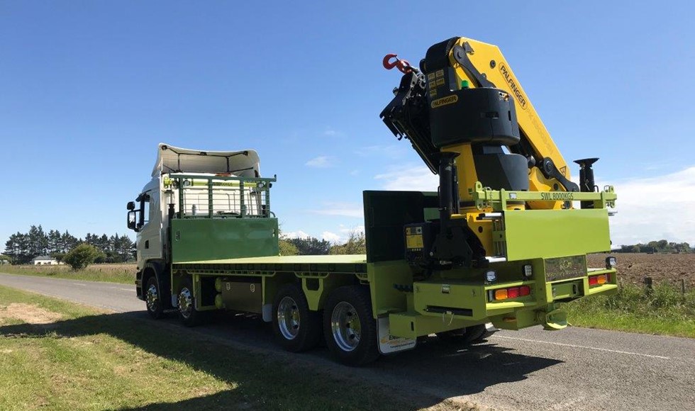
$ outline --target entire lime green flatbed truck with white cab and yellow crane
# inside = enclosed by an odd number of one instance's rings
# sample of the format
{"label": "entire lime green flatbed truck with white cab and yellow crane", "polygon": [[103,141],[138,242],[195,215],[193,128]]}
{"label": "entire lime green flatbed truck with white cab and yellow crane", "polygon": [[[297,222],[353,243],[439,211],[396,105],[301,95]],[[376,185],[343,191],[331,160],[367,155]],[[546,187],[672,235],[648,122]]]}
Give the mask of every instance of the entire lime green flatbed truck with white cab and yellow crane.
{"label": "entire lime green flatbed truck with white cab and yellow crane", "polygon": [[[284,349],[323,339],[360,366],[430,334],[465,345],[499,329],[561,330],[559,303],[616,292],[613,257],[586,263],[611,249],[616,201],[611,186],[594,186],[595,159],[580,160],[572,182],[539,137],[543,123],[526,118],[521,85],[503,81],[513,74],[499,50],[443,43],[419,69],[397,66],[403,78],[382,112],[439,175],[438,191],[365,191],[366,254],[280,255],[276,178],[261,176],[255,151],[160,144],[151,181],[127,206],[148,313],[176,310],[188,326],[214,310],[254,313]],[[499,80],[475,69],[499,65]]]}

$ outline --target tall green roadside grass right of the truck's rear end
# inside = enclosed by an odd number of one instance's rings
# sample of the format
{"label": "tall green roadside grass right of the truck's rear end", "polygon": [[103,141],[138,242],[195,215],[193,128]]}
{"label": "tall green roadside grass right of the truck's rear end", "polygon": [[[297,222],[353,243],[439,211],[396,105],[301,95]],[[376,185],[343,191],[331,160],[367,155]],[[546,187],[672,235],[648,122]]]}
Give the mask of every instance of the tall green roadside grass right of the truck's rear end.
{"label": "tall green roadside grass right of the truck's rear end", "polygon": [[577,327],[695,338],[695,291],[683,295],[667,283],[652,291],[624,283],[615,295],[582,298],[565,308]]}

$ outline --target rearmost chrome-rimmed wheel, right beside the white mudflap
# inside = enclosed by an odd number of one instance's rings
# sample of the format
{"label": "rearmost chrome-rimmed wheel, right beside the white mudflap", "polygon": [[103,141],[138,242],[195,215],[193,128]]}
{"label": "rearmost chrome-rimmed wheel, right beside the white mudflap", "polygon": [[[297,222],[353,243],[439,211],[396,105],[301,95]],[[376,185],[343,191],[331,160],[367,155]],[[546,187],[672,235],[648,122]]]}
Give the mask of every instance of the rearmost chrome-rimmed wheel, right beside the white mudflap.
{"label": "rearmost chrome-rimmed wheel, right beside the white mudflap", "polygon": [[372,317],[369,288],[345,286],[328,295],[323,308],[323,335],[335,359],[363,366],[379,358],[377,321]]}

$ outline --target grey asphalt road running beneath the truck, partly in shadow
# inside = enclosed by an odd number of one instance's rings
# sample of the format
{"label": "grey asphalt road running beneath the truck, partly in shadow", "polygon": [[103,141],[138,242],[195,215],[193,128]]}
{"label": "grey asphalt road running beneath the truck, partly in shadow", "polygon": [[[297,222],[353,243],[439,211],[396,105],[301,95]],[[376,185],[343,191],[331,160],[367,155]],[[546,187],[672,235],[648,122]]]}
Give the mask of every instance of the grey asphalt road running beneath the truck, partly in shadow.
{"label": "grey asphalt road running beneath the truck, partly in shadow", "polygon": [[[11,274],[0,274],[0,284],[150,321],[134,286]],[[228,316],[194,330],[174,319],[161,324],[179,335],[201,334],[269,356],[291,356],[408,398],[415,395],[413,408],[449,398],[452,405],[498,410],[695,410],[695,339],[533,327],[498,332],[469,349],[432,337],[413,351],[355,369],[334,364],[326,349],[280,352],[269,325],[255,318]]]}

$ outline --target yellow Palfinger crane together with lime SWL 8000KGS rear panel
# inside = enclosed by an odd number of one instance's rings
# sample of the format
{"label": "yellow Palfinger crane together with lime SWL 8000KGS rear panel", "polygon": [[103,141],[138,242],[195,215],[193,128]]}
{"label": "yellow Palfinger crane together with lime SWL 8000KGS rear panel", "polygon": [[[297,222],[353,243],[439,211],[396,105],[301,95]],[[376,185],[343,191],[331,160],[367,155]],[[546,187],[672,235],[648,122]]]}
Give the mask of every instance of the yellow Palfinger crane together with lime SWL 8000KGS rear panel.
{"label": "yellow Palfinger crane together with lime SWL 8000KGS rear panel", "polygon": [[[419,65],[384,57],[384,67],[404,75],[380,115],[440,176],[440,218],[410,227],[430,238],[413,249],[413,261],[438,269],[486,266],[526,254],[523,242],[545,256],[572,252],[567,243],[577,252],[599,244],[610,249],[605,205],[614,205],[613,188],[602,194],[606,204],[581,201],[581,211],[572,205],[598,191],[592,169],[598,159],[577,160],[581,184],[570,180],[565,159],[498,47],[450,38],[431,46]],[[525,210],[533,212],[513,213]],[[546,221],[553,227],[543,230]],[[503,227],[520,223],[529,232],[509,242]]]}

